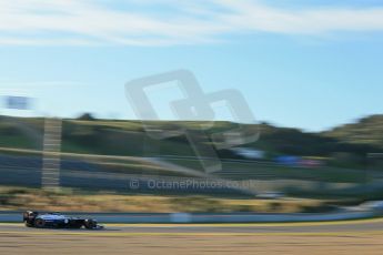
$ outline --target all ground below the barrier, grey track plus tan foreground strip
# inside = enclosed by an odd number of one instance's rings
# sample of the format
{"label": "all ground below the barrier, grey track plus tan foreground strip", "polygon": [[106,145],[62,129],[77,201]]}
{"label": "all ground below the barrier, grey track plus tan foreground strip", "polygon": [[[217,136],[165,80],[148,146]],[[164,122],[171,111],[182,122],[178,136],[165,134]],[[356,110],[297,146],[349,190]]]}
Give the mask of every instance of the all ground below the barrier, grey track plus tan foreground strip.
{"label": "all ground below the barrier, grey track plus tan foreground strip", "polygon": [[286,224],[0,224],[0,254],[382,254],[383,220]]}

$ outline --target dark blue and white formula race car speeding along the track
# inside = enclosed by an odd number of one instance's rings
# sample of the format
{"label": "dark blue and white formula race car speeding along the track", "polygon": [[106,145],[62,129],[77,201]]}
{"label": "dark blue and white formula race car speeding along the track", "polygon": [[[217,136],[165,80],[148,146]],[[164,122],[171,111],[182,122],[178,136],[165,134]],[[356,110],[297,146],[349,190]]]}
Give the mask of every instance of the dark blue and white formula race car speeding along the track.
{"label": "dark blue and white formula race car speeding along the track", "polygon": [[92,218],[71,217],[60,213],[43,213],[27,211],[22,215],[23,222],[28,227],[50,227],[50,228],[81,228],[101,230],[97,221]]}

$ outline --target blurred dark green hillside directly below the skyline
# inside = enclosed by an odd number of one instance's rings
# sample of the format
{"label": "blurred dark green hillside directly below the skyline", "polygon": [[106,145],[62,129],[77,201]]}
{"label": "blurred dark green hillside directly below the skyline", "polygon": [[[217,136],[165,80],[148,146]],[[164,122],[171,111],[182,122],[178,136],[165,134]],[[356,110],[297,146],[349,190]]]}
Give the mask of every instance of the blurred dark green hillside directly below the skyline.
{"label": "blurred dark green hillside directly below the skyline", "polygon": [[[147,123],[149,124],[149,122]],[[198,132],[201,122],[150,122],[159,131],[189,129],[198,135],[235,129],[231,122],[215,122],[205,133]],[[248,124],[244,132],[260,132],[259,141],[243,146],[263,150],[266,159],[278,155],[336,157],[340,153],[349,163],[363,164],[370,152],[383,152],[383,116],[375,115],[323,133],[306,133],[296,129],[278,128],[266,123]],[[0,146],[42,149],[42,119],[0,118]],[[210,143],[211,141],[205,141]],[[62,152],[104,155],[178,155],[193,156],[185,135],[155,140],[144,132],[139,121],[73,119],[63,120]],[[238,157],[230,150],[220,150],[221,157]],[[344,156],[344,154],[346,156]],[[341,156],[341,157],[342,157]],[[350,160],[352,159],[352,160]]]}

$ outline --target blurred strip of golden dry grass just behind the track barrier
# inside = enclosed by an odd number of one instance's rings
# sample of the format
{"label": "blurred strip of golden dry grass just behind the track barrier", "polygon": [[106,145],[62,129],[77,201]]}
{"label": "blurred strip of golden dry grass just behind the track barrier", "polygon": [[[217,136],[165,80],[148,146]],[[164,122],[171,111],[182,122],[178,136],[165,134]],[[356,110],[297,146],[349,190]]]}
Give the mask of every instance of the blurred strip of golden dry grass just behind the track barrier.
{"label": "blurred strip of golden dry grass just behind the track barrier", "polygon": [[131,195],[84,193],[72,190],[0,188],[0,210],[36,210],[52,212],[259,212],[300,213],[325,210],[315,200],[239,200],[209,196]]}

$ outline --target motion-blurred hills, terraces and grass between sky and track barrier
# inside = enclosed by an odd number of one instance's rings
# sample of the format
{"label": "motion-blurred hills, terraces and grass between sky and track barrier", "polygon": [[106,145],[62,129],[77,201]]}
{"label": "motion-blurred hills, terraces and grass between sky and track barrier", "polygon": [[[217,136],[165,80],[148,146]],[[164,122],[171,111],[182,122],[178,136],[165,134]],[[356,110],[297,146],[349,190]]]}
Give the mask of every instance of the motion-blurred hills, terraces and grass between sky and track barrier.
{"label": "motion-blurred hills, terraces and grass between sky and track barrier", "polygon": [[[209,132],[235,126],[218,121]],[[205,173],[184,135],[155,140],[140,121],[2,115],[0,210],[324,213],[383,198],[382,115],[316,133],[244,126],[260,140],[218,150],[222,170]]]}

